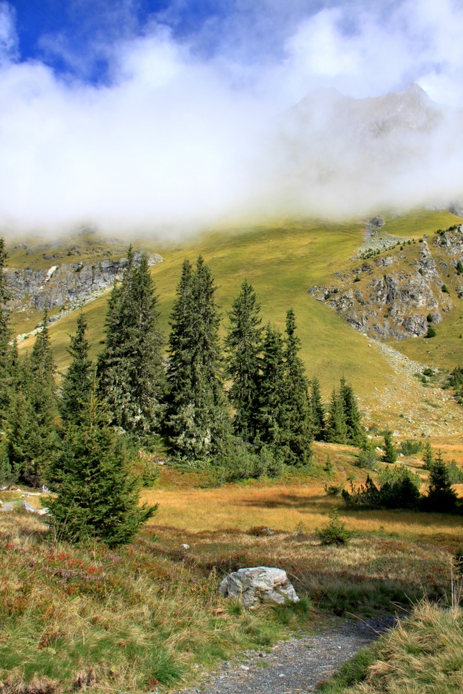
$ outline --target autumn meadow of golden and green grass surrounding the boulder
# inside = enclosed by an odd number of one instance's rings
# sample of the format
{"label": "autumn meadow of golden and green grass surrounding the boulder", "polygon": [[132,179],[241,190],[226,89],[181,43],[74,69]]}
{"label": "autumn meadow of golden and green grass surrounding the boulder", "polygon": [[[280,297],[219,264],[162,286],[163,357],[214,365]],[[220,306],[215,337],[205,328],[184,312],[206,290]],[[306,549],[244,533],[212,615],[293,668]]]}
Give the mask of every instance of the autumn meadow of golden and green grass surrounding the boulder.
{"label": "autumn meadow of golden and green grass surrounding the boulder", "polygon": [[[447,445],[460,459],[462,443]],[[160,504],[158,514],[117,550],[62,543],[24,511],[0,514],[2,691],[167,692],[329,615],[367,618],[402,613],[423,596],[442,600],[463,518],[345,509],[323,487],[364,479],[356,452],[317,443],[309,470],[219,488],[201,472],[164,466],[142,493]],[[405,462],[421,471],[419,456]],[[2,492],[3,501],[8,495],[19,498]],[[355,531],[347,546],[317,539],[333,507]],[[303,600],[253,612],[224,601],[221,578],[243,566],[284,568]]]}

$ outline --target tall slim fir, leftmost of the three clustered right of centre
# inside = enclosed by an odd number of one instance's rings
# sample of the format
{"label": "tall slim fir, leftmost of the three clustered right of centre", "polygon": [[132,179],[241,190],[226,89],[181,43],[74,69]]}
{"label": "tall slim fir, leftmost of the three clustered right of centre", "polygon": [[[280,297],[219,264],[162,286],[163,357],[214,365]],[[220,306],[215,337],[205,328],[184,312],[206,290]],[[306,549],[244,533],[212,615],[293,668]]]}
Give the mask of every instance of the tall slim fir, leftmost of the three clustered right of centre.
{"label": "tall slim fir, leftmost of the three clustered right of centre", "polygon": [[253,442],[258,427],[258,394],[262,328],[260,304],[247,280],[228,314],[227,371],[233,379],[228,396],[235,409],[233,428],[244,441]]}

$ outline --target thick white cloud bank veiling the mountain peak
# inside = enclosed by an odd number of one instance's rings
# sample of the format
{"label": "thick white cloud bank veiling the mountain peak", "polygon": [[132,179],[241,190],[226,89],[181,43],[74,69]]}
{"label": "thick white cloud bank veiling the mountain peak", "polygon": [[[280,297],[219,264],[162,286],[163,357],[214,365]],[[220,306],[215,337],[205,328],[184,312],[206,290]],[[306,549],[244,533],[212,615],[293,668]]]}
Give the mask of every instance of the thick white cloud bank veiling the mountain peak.
{"label": "thick white cloud bank veiling the mountain peak", "polygon": [[[1,228],[170,235],[461,197],[461,6],[297,16],[278,51],[249,62],[230,41],[205,56],[153,23],[104,46],[101,86],[22,61],[0,3]],[[237,35],[245,19],[234,17]]]}

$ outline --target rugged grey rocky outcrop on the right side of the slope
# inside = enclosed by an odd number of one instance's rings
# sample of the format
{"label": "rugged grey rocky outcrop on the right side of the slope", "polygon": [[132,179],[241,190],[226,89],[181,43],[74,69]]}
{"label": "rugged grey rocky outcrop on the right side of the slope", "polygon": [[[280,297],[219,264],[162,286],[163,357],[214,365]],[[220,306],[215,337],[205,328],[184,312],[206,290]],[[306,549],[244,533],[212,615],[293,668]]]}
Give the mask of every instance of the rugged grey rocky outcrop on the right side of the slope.
{"label": "rugged grey rocky outcrop on the right side of the slope", "polygon": [[351,269],[309,294],[367,335],[421,337],[463,297],[463,225],[372,251],[358,263],[352,259]]}

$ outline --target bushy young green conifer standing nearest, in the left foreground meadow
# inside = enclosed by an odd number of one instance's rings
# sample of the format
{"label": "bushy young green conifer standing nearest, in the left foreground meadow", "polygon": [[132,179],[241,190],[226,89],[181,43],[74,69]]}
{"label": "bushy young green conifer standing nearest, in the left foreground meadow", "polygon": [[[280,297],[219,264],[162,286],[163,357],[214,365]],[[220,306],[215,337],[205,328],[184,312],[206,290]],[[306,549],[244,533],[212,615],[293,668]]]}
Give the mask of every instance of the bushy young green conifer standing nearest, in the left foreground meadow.
{"label": "bushy young green conifer standing nearest, in the left foreground meadow", "polygon": [[60,454],[49,471],[49,486],[57,494],[49,507],[58,539],[125,544],[156,511],[157,506],[138,504],[139,480],[131,472],[124,437],[109,418],[94,387],[80,423],[70,418],[65,425]]}

